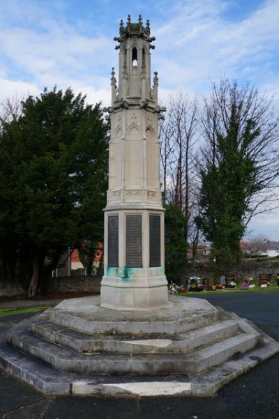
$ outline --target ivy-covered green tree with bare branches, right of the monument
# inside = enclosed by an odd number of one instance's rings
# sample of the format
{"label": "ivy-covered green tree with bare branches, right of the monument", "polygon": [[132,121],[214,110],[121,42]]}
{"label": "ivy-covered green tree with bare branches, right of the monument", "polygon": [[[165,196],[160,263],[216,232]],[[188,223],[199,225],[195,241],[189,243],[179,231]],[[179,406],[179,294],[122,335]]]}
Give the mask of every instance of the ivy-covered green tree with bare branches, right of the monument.
{"label": "ivy-covered green tree with bare branches, right of the monument", "polygon": [[[278,176],[278,121],[255,89],[223,80],[213,85],[203,118],[207,144],[201,168],[201,214],[196,222],[212,242],[217,266],[239,261],[239,242]],[[275,153],[275,154],[274,154]]]}

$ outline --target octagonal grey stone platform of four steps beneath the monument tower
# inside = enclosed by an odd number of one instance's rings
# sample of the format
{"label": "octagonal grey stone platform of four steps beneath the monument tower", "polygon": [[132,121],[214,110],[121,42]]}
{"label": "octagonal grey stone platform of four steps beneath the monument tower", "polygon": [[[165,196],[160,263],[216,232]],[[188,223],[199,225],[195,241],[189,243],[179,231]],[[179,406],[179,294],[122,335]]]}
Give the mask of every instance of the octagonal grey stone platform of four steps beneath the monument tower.
{"label": "octagonal grey stone platform of four steps beneath the monument tower", "polygon": [[101,308],[98,297],[65,300],[10,329],[7,342],[3,367],[56,394],[135,395],[128,383],[146,388],[156,376],[159,394],[165,383],[172,394],[209,395],[279,351],[235,314],[177,296],[149,312]]}

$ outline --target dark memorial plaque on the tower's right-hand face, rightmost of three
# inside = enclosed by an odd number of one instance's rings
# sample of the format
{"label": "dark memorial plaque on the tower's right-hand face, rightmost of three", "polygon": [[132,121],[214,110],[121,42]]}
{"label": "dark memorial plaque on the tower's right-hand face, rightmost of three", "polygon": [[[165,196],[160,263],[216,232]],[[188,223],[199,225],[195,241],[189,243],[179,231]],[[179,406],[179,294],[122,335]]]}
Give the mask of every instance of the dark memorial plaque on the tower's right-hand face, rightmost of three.
{"label": "dark memorial plaque on the tower's right-hand face, rightmost of three", "polygon": [[149,266],[161,265],[160,215],[149,215]]}

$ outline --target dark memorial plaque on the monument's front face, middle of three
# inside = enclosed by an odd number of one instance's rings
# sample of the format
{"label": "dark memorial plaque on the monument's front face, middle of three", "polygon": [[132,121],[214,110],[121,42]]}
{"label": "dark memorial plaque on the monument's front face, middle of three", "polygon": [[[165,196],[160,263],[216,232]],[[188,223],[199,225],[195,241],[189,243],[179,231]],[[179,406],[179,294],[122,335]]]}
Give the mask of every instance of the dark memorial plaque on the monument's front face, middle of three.
{"label": "dark memorial plaque on the monument's front face, middle of three", "polygon": [[126,215],[126,266],[142,268],[142,215]]}

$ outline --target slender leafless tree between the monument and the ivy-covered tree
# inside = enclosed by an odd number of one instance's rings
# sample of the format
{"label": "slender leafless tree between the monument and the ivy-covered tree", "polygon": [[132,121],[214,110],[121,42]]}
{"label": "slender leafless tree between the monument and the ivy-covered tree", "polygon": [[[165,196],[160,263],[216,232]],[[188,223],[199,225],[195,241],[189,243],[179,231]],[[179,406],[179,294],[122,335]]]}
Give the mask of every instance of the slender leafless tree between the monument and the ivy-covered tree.
{"label": "slender leafless tree between the monument and the ivy-covered tree", "polygon": [[159,129],[164,200],[179,206],[189,220],[193,149],[197,139],[197,100],[179,92],[169,97],[167,108],[165,121]]}

